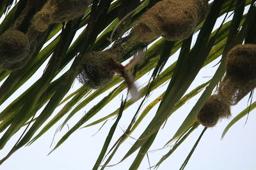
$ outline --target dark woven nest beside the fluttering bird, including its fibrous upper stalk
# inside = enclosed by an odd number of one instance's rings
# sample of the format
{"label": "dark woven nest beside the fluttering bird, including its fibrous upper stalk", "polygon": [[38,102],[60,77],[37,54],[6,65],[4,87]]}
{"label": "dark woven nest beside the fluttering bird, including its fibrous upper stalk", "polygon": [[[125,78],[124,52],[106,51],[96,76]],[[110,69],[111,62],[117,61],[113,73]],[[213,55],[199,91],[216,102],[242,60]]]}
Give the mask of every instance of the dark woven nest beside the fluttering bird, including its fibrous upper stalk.
{"label": "dark woven nest beside the fluttering bird, including its fibrous upper stalk", "polygon": [[[105,51],[91,52],[83,56],[78,80],[91,89],[99,89],[112,80],[114,71],[124,70],[119,62],[138,41],[131,34],[120,38]],[[131,66],[131,65],[130,65]]]}

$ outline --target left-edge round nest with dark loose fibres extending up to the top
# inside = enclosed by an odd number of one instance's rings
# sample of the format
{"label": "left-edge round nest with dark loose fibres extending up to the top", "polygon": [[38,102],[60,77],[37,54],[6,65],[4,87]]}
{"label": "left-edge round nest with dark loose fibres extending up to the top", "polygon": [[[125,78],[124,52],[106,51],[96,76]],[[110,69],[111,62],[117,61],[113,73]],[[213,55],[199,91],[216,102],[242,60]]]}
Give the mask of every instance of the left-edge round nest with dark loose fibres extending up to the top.
{"label": "left-edge round nest with dark loose fibres extending up to the top", "polygon": [[39,0],[29,0],[19,17],[1,35],[0,69],[21,69],[29,62],[31,57],[39,52],[42,43],[44,43],[48,35],[48,31],[36,31],[33,25],[29,25],[28,23],[31,22],[31,16],[42,8],[42,6],[43,3]]}

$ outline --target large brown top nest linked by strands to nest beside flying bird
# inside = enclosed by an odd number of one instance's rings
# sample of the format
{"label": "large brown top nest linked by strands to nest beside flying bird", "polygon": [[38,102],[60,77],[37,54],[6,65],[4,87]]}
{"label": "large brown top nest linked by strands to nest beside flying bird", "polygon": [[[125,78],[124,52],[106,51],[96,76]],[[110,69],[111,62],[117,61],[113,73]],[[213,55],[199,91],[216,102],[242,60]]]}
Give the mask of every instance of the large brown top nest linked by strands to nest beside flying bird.
{"label": "large brown top nest linked by strands to nest beside flying bird", "polygon": [[[196,25],[205,19],[207,9],[207,0],[159,1],[138,20],[122,49],[127,51],[127,48],[136,43],[150,43],[159,36],[169,41],[186,39],[193,34]],[[116,45],[103,52],[86,54],[82,60],[79,81],[93,89],[106,85],[114,75],[111,67],[118,66],[122,60],[115,48]],[[109,60],[112,61],[112,66],[105,65]]]}

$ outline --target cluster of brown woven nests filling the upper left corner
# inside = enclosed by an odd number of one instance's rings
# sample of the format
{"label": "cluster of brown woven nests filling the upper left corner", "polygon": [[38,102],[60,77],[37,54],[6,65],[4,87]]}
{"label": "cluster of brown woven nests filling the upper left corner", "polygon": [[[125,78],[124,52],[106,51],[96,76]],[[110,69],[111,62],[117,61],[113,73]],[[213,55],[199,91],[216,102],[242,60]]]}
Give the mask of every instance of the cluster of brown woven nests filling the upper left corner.
{"label": "cluster of brown woven nests filling the upper left corner", "polygon": [[88,0],[49,0],[43,5],[40,0],[29,0],[17,20],[1,34],[0,69],[24,67],[44,43],[49,25],[83,15]]}

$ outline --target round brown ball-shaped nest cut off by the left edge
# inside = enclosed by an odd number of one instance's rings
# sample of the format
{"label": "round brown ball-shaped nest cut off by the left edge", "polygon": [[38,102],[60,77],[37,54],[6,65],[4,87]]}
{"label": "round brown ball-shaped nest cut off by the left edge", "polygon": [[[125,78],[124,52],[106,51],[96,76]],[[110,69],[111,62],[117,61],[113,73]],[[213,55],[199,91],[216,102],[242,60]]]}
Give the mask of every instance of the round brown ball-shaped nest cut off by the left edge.
{"label": "round brown ball-shaped nest cut off by the left edge", "polygon": [[20,69],[26,64],[28,55],[29,40],[24,33],[10,30],[0,36],[1,69]]}

